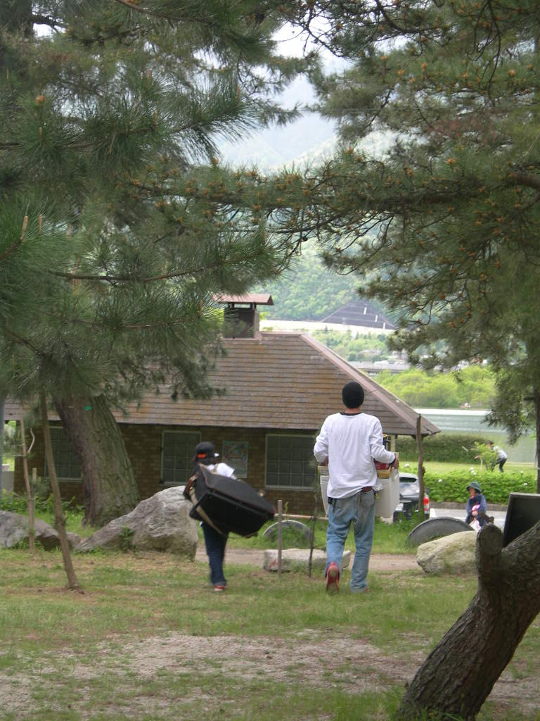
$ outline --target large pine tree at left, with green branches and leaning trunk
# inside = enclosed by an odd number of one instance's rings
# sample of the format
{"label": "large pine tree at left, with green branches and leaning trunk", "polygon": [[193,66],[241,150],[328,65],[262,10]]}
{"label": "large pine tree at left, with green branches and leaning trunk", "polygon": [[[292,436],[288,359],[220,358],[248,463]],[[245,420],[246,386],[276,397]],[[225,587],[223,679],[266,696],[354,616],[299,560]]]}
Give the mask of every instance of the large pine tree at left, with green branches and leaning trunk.
{"label": "large pine tree at left, with green branches and leaning trunk", "polygon": [[305,67],[276,54],[276,6],[0,6],[0,365],[15,397],[53,399],[90,523],[137,500],[110,405],[166,376],[210,394],[213,294],[282,262],[217,150],[296,114],[271,99]]}

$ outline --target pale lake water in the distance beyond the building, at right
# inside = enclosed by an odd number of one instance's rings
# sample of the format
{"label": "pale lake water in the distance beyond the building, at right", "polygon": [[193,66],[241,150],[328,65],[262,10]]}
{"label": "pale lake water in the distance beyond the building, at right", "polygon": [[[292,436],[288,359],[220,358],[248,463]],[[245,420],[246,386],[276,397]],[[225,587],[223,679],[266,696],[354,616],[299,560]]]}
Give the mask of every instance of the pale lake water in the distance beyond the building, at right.
{"label": "pale lake water in the distance beyond the building, at right", "polygon": [[504,428],[489,426],[486,423],[488,410],[450,410],[446,408],[415,408],[422,417],[431,420],[444,433],[470,433],[472,443],[474,435],[487,436],[495,445],[504,448],[509,461],[534,464],[536,438],[532,433],[523,434],[515,446],[510,446],[508,434]]}

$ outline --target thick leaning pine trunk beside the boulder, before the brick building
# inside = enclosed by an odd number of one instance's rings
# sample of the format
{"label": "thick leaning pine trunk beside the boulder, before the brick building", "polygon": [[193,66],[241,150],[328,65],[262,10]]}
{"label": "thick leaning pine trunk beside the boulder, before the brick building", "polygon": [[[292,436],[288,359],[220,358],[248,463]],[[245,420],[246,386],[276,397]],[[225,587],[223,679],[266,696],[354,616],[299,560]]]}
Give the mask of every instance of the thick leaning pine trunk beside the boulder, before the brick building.
{"label": "thick leaning pine trunk beside the boulder, before the brick building", "polygon": [[117,422],[103,396],[54,399],[81,463],[86,523],[104,526],[133,510],[139,492]]}

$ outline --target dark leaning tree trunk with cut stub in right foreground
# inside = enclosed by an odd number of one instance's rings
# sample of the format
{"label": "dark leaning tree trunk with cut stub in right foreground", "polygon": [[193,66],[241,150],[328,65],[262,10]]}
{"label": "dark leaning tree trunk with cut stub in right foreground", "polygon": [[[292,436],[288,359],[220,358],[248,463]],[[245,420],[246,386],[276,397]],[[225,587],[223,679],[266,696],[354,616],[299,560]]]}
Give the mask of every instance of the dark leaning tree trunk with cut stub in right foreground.
{"label": "dark leaning tree trunk with cut stub in right foreground", "polygon": [[430,711],[474,719],[540,611],[540,522],[504,549],[500,529],[484,526],[476,562],[477,594],[405,691],[402,720]]}

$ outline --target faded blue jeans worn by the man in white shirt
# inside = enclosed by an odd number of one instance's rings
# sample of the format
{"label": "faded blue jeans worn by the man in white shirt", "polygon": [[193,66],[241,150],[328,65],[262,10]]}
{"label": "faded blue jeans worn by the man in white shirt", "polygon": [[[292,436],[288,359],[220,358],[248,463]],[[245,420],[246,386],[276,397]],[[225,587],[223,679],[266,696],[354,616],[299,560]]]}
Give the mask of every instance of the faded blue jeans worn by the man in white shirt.
{"label": "faded blue jeans worn by the man in white shirt", "polygon": [[336,563],[341,575],[341,557],[351,523],[356,546],[351,590],[361,591],[367,588],[367,569],[373,544],[375,523],[375,494],[373,491],[356,493],[348,498],[336,498],[333,505],[328,506],[326,570],[330,563]]}

